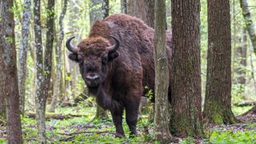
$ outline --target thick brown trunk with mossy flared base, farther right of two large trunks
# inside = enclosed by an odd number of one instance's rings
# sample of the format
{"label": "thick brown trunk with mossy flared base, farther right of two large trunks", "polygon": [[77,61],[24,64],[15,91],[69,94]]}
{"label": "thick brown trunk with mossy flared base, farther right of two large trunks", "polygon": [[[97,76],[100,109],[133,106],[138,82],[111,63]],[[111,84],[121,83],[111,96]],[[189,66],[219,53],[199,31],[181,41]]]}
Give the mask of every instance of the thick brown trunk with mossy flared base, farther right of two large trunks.
{"label": "thick brown trunk with mossy flared base, farther right of two large trunks", "polygon": [[230,1],[208,1],[208,56],[203,116],[210,123],[237,122],[231,110]]}

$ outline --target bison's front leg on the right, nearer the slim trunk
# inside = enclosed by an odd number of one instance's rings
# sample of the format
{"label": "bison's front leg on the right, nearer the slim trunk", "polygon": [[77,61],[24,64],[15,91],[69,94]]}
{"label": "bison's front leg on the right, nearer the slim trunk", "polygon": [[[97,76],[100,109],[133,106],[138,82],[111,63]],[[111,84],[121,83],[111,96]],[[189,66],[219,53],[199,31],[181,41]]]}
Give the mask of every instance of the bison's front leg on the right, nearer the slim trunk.
{"label": "bison's front leg on the right, nearer the slim trunk", "polygon": [[138,107],[140,98],[134,98],[126,104],[126,122],[130,129],[130,136],[136,136],[136,125],[138,121]]}

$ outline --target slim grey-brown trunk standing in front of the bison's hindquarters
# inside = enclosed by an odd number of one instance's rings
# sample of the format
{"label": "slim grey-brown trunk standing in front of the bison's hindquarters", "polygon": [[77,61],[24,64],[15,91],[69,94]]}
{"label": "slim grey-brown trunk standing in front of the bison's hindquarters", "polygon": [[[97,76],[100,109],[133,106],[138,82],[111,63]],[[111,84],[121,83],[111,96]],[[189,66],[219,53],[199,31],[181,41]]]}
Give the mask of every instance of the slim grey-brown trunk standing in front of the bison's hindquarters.
{"label": "slim grey-brown trunk standing in front of the bison's hindquarters", "polygon": [[[154,9],[154,8],[153,8]],[[168,126],[169,67],[166,56],[166,2],[155,1],[154,67],[155,112],[154,139],[165,142],[171,138]]]}

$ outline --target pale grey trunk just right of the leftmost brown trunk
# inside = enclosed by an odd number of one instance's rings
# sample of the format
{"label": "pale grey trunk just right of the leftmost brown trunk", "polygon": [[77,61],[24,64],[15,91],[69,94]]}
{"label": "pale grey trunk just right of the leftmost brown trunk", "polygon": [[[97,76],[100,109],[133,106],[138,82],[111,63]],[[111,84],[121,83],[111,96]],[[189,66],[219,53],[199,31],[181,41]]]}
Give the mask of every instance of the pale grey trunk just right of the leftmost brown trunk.
{"label": "pale grey trunk just right of the leftmost brown trunk", "polygon": [[25,95],[26,95],[26,56],[29,42],[30,32],[30,11],[31,0],[25,0],[22,16],[22,38],[20,50],[18,54],[18,92],[19,92],[19,110],[24,114],[25,110]]}

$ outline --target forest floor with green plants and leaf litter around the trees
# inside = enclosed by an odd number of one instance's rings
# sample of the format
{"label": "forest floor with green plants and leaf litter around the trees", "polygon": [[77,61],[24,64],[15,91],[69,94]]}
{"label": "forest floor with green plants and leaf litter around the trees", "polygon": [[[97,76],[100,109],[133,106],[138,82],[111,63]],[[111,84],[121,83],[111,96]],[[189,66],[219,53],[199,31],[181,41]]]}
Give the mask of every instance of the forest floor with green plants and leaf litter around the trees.
{"label": "forest floor with green plants and leaf litter around the trees", "polygon": [[[240,115],[251,106],[233,107],[234,114]],[[126,138],[114,138],[111,118],[94,119],[95,108],[83,103],[73,107],[58,107],[55,114],[68,115],[64,119],[47,118],[46,137],[50,143],[159,143],[153,139],[153,122],[146,115],[138,121],[137,138],[128,138],[128,126],[123,126]],[[53,114],[47,114],[53,115]],[[109,114],[110,115],[110,114]],[[175,138],[178,143],[256,143],[256,116],[238,117],[243,122],[234,125],[205,126],[205,138]],[[149,132],[149,134],[146,134]],[[36,121],[33,117],[22,118],[24,143],[38,143]],[[0,126],[0,143],[6,143],[6,127]]]}

